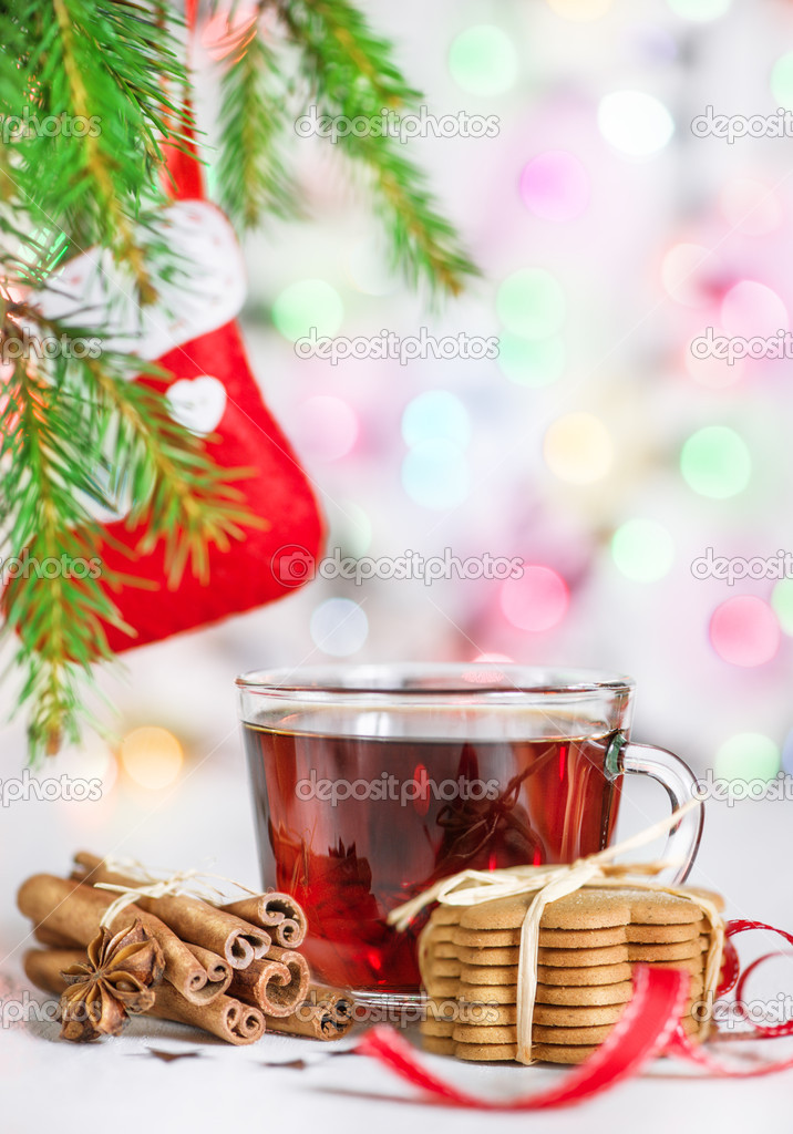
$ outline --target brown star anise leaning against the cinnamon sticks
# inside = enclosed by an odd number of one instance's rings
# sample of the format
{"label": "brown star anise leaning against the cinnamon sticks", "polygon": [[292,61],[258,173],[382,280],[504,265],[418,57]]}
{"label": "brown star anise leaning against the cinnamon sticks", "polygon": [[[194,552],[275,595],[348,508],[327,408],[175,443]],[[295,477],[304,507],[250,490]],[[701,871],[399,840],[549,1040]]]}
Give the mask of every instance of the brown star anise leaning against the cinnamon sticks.
{"label": "brown star anise leaning against the cinnamon sticks", "polygon": [[162,949],[140,919],[115,936],[103,928],[88,946],[86,960],[61,973],[69,984],[60,998],[61,1038],[82,1043],[118,1035],[130,1015],[153,1006],[152,985],[163,968]]}

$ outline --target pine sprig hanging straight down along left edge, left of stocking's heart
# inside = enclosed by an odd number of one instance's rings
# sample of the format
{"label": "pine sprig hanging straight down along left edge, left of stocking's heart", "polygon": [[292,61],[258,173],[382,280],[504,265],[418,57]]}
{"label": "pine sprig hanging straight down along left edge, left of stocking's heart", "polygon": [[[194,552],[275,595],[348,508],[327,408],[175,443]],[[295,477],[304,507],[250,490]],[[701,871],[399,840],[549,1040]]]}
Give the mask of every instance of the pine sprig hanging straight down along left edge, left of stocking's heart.
{"label": "pine sprig hanging straight down along left edge, left of stocking's heart", "polygon": [[[84,564],[95,564],[95,525],[79,502],[92,485],[79,450],[87,438],[68,398],[19,359],[3,388],[0,462],[14,507],[5,515],[8,544],[26,575],[3,592],[5,633],[16,633],[16,666],[25,674],[19,704],[32,705],[31,758],[75,741],[85,717],[91,666],[110,658],[104,625],[125,628],[118,610]],[[65,558],[61,558],[65,557]],[[60,564],[54,576],[44,566]],[[74,565],[79,561],[81,577]],[[95,568],[92,568],[95,569]]]}

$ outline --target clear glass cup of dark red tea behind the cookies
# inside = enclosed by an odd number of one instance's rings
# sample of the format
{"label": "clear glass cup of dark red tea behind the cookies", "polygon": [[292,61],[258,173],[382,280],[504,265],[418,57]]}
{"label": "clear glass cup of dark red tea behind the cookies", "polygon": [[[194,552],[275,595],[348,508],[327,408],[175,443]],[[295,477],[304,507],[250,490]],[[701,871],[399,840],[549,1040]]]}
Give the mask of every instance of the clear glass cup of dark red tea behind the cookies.
{"label": "clear glass cup of dark red tea behind the cookies", "polygon": [[[319,980],[412,1004],[415,938],[388,912],[462,870],[608,846],[623,777],[692,797],[673,753],[630,741],[634,683],[504,665],[330,666],[237,679],[265,886],[305,908]],[[667,854],[685,879],[701,809]],[[425,920],[425,919],[424,919]]]}

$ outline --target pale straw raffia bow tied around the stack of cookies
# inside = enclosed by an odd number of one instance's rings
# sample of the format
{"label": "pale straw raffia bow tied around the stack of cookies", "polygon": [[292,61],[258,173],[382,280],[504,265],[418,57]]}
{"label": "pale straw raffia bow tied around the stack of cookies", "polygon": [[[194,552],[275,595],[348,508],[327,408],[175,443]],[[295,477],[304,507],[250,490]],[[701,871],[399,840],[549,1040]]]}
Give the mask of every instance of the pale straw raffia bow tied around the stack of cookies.
{"label": "pale straw raffia bow tied around the stack of cookies", "polygon": [[[651,880],[673,862],[616,863],[614,860],[629,850],[652,843],[675,827],[693,807],[701,803],[691,799],[674,811],[667,819],[660,820],[640,831],[630,839],[605,850],[579,858],[573,863],[562,863],[546,866],[507,866],[501,870],[480,871],[465,870],[450,878],[441,879],[435,886],[419,894],[415,898],[393,909],[388,915],[389,924],[398,930],[405,930],[424,906],[433,902],[452,906],[475,906],[497,898],[514,897],[520,894],[537,891],[530,903],[521,928],[521,945],[517,963],[517,1055],[518,1063],[531,1063],[532,1015],[537,996],[537,964],[540,943],[540,920],[545,907],[573,894],[587,886],[633,887],[660,890],[665,894],[685,897],[695,902],[710,924],[710,946],[705,968],[706,996],[712,992],[718,981],[718,972],[724,946],[724,922],[716,906],[705,896],[675,886],[667,886]],[[644,875],[643,878],[641,875]],[[641,879],[641,880],[640,880]],[[425,949],[423,933],[419,938],[419,967],[424,979]],[[424,980],[424,983],[427,981]]]}

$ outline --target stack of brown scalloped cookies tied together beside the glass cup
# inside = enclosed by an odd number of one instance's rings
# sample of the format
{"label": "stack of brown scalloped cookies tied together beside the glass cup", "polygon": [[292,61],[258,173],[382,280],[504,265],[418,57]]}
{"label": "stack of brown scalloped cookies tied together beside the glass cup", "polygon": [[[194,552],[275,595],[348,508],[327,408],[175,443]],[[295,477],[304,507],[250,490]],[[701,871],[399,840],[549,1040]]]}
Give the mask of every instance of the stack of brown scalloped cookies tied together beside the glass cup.
{"label": "stack of brown scalloped cookies tied together beside the glass cup", "polygon": [[[540,921],[532,1056],[583,1063],[631,999],[633,965],[691,974],[691,1006],[705,992],[711,928],[697,902],[650,889],[584,888],[549,903]],[[428,993],[425,1050],[459,1059],[516,1055],[521,928],[534,894],[476,906],[439,906],[422,937]],[[720,898],[707,897],[720,907]]]}

